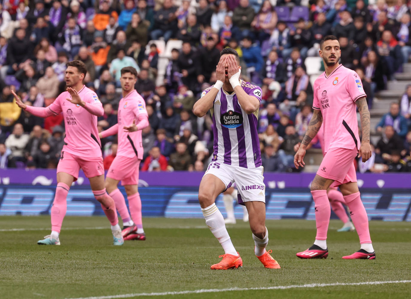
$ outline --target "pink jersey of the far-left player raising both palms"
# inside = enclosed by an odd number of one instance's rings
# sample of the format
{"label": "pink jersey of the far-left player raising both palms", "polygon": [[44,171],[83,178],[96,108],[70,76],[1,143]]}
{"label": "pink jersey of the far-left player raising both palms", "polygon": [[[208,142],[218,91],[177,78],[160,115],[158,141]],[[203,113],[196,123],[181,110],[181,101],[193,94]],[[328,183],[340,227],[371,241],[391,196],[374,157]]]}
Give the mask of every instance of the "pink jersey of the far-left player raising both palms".
{"label": "pink jersey of the far-left player raising both palms", "polygon": [[[102,107],[97,94],[91,89],[83,86],[79,91],[79,95],[82,101]],[[63,113],[66,137],[64,138],[65,145],[62,151],[84,158],[101,157],[102,150],[97,130],[97,116],[92,115],[80,105],[67,101],[67,99],[71,99],[69,92],[62,92],[47,107],[55,115]]]}

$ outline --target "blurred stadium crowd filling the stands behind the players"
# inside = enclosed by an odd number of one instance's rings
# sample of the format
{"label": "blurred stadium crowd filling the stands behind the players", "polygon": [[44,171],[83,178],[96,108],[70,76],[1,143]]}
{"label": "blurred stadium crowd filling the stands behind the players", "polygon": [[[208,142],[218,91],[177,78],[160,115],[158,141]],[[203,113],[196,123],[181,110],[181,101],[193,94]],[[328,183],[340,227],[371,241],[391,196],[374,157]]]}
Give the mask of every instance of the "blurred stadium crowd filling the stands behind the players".
{"label": "blurred stadium crowd filling the stands behind the players", "polygon": [[[312,116],[305,59],[334,34],[341,63],[375,92],[411,54],[411,5],[405,0],[3,0],[0,4],[0,168],[56,168],[64,145],[62,115],[45,120],[14,103],[48,106],[65,90],[65,65],[81,60],[85,85],[104,106],[99,130],[117,122],[122,67],[139,73],[150,126],[143,129],[142,171],[203,171],[212,154],[210,114],[194,117],[202,90],[216,81],[219,51],[236,49],[242,79],[262,88],[259,133],[266,171],[296,171],[294,145]],[[180,40],[158,69],[164,48]],[[154,42],[150,42],[154,41]],[[156,43],[157,41],[157,43]],[[164,74],[164,78],[163,78]],[[361,172],[411,171],[411,86],[377,125],[381,140]],[[105,138],[104,166],[116,154]],[[318,145],[316,145],[318,147]],[[314,147],[316,147],[314,146]]]}

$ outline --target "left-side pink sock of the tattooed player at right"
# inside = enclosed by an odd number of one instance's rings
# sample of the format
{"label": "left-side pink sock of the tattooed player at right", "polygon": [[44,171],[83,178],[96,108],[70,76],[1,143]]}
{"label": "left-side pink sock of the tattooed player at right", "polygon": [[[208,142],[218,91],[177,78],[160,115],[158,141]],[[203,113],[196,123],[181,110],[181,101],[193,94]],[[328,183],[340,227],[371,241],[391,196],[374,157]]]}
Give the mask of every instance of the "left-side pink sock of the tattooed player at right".
{"label": "left-side pink sock of the tattooed player at right", "polygon": [[314,190],[311,191],[311,194],[315,204],[315,222],[317,226],[317,235],[315,239],[326,240],[331,215],[327,190]]}

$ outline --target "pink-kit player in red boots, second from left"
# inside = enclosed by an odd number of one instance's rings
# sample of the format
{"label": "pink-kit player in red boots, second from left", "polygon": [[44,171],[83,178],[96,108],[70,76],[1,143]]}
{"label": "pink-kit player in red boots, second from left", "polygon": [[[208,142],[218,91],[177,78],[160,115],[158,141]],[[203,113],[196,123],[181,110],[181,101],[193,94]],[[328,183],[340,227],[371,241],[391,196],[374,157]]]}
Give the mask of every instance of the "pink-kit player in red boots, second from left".
{"label": "pink-kit player in red boots, second from left", "polygon": [[[136,81],[136,69],[121,69],[122,99],[118,108],[118,123],[99,134],[100,138],[118,135],[118,150],[107,172],[106,189],[122,218],[122,236],[125,240],[145,240],[138,184],[139,165],[143,159],[141,130],[148,127],[149,123],[145,101],[134,89]],[[117,188],[120,181],[127,194],[131,217],[124,196]]]}

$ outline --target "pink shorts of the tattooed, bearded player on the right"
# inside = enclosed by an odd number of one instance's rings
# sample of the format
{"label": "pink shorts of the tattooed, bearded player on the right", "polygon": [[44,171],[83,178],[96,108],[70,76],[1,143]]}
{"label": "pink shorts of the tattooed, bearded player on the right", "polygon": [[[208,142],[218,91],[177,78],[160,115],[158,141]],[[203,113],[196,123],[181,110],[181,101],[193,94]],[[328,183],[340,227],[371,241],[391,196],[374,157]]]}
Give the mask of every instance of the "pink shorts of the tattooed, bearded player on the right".
{"label": "pink shorts of the tattooed, bearded player on the right", "polygon": [[356,168],[353,163],[357,154],[356,148],[353,150],[340,147],[330,148],[321,162],[317,175],[333,179],[335,182],[331,184],[331,187],[357,182]]}

